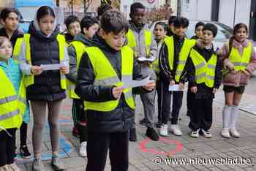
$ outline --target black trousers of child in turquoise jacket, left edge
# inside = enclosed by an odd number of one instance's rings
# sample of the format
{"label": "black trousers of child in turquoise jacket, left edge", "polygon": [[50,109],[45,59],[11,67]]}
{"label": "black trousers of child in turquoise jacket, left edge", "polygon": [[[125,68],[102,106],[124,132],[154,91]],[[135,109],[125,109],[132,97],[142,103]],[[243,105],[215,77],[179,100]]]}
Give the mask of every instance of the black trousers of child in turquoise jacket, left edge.
{"label": "black trousers of child in turquoise jacket, left edge", "polygon": [[[9,132],[12,137],[10,137],[7,132]],[[16,129],[7,129],[7,132],[4,130],[0,132],[0,167],[14,162]]]}

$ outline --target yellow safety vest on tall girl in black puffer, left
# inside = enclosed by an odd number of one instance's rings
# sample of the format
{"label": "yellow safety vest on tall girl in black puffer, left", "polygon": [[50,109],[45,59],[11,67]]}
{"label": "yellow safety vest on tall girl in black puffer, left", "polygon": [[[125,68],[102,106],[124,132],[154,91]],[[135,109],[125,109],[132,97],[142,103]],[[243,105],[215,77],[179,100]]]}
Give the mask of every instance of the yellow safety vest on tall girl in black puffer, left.
{"label": "yellow safety vest on tall girl in black puffer, left", "polygon": [[[24,34],[25,44],[26,44],[26,61],[27,63],[31,64],[31,45],[30,45],[30,34]],[[61,34],[57,35],[57,41],[59,42],[59,62],[63,61],[64,59],[64,47],[66,47],[66,40],[65,37]],[[66,76],[61,74],[61,88],[66,89],[67,83],[66,83]],[[24,83],[25,86],[31,86],[34,84],[34,75],[25,75],[24,77]]]}

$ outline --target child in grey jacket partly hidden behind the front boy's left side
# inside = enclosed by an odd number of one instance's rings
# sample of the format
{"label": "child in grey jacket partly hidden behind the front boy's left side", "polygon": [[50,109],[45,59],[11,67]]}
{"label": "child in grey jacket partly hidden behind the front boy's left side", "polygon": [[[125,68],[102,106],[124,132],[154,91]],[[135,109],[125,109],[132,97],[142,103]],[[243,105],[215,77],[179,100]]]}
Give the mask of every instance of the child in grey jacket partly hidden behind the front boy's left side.
{"label": "child in grey jacket partly hidden behind the front boy's left side", "polygon": [[92,37],[99,28],[97,18],[90,16],[84,17],[80,22],[81,33],[75,36],[73,42],[69,44],[69,74],[67,78],[69,80],[68,94],[69,98],[73,99],[72,105],[72,117],[74,121],[74,128],[78,129],[76,133],[73,129],[73,134],[79,134],[80,136],[80,156],[86,156],[86,141],[87,141],[87,130],[86,130],[86,114],[84,113],[83,100],[75,94],[75,83],[77,83],[77,68],[82,57],[84,50],[89,46]]}

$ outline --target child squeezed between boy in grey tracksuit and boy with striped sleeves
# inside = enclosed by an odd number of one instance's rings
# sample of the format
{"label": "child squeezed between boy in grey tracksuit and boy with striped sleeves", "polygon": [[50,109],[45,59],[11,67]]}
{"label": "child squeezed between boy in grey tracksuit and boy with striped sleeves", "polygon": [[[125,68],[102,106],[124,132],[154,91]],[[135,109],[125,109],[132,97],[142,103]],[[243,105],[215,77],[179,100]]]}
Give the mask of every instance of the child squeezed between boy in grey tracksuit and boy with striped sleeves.
{"label": "child squeezed between boy in grey tracksuit and boy with striped sleeves", "polygon": [[154,36],[155,36],[155,40],[157,42],[157,59],[153,62],[153,69],[154,72],[157,75],[157,105],[158,105],[158,122],[157,122],[157,128],[160,128],[162,125],[162,115],[161,115],[161,99],[162,97],[159,96],[161,94],[161,86],[160,86],[160,82],[159,82],[159,60],[158,60],[158,56],[159,56],[159,51],[160,51],[160,47],[162,45],[162,42],[164,42],[164,38],[166,37],[166,31],[167,31],[167,26],[165,25],[164,22],[158,22],[155,24],[154,26]]}

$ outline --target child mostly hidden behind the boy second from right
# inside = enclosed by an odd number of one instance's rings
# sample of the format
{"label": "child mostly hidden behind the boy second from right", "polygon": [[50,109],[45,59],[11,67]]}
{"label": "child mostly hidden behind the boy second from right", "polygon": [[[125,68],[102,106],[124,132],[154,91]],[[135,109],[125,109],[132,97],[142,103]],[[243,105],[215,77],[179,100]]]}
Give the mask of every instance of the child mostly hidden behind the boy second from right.
{"label": "child mostly hidden behind the boy second from right", "polygon": [[[203,36],[203,27],[206,24],[199,21],[195,24],[195,36],[191,37],[190,39],[199,39]],[[187,115],[189,116],[192,113],[192,104],[193,104],[193,97],[194,94],[190,91],[191,85],[189,84],[187,88]]]}

